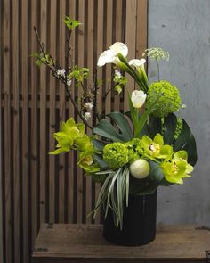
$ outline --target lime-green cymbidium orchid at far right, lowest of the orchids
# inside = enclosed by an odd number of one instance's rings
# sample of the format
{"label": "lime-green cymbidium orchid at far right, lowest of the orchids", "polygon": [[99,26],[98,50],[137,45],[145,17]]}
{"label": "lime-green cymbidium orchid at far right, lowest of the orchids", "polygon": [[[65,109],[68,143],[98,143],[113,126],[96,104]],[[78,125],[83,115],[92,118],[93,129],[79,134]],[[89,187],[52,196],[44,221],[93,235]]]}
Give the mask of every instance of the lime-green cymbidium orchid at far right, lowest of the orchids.
{"label": "lime-green cymbidium orchid at far right, lowest of the orchids", "polygon": [[182,178],[190,177],[193,167],[187,162],[186,151],[174,153],[173,159],[165,160],[161,164],[166,180],[174,184],[183,184]]}

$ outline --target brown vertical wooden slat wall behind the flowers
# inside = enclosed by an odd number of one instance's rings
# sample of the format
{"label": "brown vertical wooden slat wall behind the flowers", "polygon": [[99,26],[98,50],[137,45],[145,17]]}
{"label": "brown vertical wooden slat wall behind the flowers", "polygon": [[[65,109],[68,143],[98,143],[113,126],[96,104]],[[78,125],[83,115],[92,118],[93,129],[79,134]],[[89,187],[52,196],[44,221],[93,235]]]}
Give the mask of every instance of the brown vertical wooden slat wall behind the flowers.
{"label": "brown vertical wooden slat wall behind the flowers", "polygon": [[[77,168],[77,154],[47,153],[54,148],[52,134],[60,121],[75,116],[75,111],[63,86],[28,57],[38,48],[32,27],[65,67],[67,29],[62,19],[69,15],[83,22],[71,39],[72,56],[80,67],[91,69],[87,84],[93,84],[97,58],[112,43],[125,42],[128,58],[141,58],[147,46],[147,0],[1,0],[0,12],[0,262],[28,263],[40,224],[93,223],[85,215],[100,191],[100,185]],[[125,94],[112,92],[103,100],[111,66],[97,70],[98,78],[104,79],[101,111],[126,110]],[[132,79],[128,87],[133,89]],[[77,98],[77,87],[72,94]],[[100,216],[96,222],[101,222]]]}

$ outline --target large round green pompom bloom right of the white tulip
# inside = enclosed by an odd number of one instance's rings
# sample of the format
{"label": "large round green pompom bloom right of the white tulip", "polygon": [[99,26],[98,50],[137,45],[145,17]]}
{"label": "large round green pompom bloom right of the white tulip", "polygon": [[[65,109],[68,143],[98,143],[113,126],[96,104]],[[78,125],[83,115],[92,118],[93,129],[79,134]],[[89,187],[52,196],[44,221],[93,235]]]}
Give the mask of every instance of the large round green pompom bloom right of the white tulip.
{"label": "large round green pompom bloom right of the white tulip", "polygon": [[166,80],[151,83],[146,102],[148,108],[157,100],[158,95],[161,97],[152,111],[155,117],[166,117],[168,113],[179,110],[182,102],[176,86],[171,85]]}

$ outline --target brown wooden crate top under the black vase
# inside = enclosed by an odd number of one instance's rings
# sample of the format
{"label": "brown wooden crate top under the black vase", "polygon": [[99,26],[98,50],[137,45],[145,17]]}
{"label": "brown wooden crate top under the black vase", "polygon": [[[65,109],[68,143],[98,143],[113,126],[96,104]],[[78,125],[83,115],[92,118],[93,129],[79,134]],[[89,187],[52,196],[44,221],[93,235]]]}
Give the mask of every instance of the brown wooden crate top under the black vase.
{"label": "brown wooden crate top under the black vase", "polygon": [[43,225],[33,263],[210,262],[210,231],[199,226],[158,226],[154,242],[122,247],[105,241],[101,225]]}

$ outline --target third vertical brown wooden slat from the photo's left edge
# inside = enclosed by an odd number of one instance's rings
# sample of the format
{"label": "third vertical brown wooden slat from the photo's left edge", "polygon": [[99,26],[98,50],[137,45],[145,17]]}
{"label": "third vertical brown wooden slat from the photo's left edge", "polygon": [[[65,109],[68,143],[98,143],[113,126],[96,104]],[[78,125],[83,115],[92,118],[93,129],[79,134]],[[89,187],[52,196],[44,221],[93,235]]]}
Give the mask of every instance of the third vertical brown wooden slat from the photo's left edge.
{"label": "third vertical brown wooden slat from the photo's left edge", "polygon": [[[17,1],[16,1],[17,2]],[[22,85],[22,262],[29,262],[29,217],[28,217],[28,0],[21,1],[21,85]],[[20,160],[18,160],[20,161]],[[19,241],[20,242],[20,241]]]}

